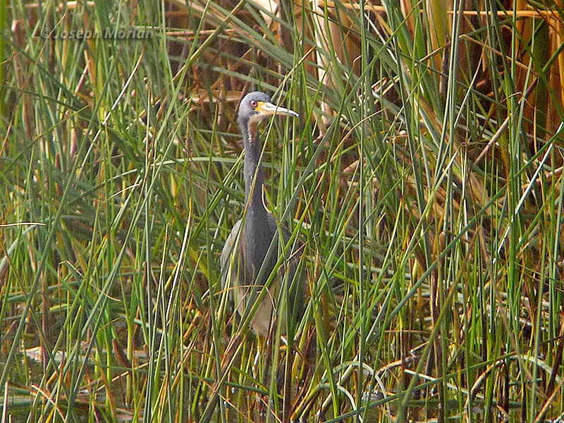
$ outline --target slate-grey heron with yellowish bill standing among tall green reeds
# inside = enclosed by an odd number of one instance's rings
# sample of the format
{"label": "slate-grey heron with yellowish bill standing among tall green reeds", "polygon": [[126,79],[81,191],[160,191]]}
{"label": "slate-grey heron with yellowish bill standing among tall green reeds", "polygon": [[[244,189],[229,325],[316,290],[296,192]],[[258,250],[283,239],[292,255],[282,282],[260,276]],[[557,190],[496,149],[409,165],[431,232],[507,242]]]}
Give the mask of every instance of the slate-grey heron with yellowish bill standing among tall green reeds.
{"label": "slate-grey heron with yellowish bill standing among tall green reeds", "polygon": [[[259,293],[266,289],[250,327],[258,336],[266,338],[271,324],[278,319],[282,334],[286,333],[286,313],[279,313],[279,290],[286,278],[288,290],[288,315],[301,316],[303,298],[303,282],[294,281],[298,260],[296,251],[291,251],[288,259],[278,269],[273,283],[266,286],[276,262],[278,262],[278,248],[270,248],[271,243],[283,240],[284,245],[290,239],[290,231],[278,225],[274,216],[266,209],[263,201],[264,170],[260,163],[262,143],[259,140],[258,125],[268,116],[285,115],[298,117],[290,109],[276,106],[264,92],[250,92],[243,97],[239,105],[238,124],[243,134],[245,148],[245,163],[243,176],[245,178],[246,214],[235,225],[228,235],[221,252],[222,287],[229,289],[231,300],[238,314],[243,317],[247,307],[254,307]],[[239,239],[238,239],[239,238]],[[235,249],[235,251],[234,251]]]}

